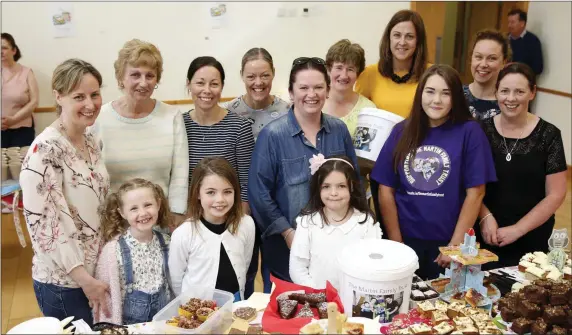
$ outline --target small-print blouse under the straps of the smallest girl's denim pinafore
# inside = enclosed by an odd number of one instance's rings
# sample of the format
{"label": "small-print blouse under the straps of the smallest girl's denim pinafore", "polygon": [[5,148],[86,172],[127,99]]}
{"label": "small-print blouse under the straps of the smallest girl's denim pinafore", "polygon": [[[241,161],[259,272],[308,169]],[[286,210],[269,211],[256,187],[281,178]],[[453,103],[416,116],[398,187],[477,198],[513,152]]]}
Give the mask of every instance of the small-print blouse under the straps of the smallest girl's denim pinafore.
{"label": "small-print blouse under the straps of the smallest girl's denim pinafore", "polygon": [[[145,293],[157,293],[166,278],[163,276],[163,251],[157,235],[153,234],[153,239],[149,243],[139,242],[127,230],[123,238],[131,252],[131,264],[133,266],[133,289]],[[163,234],[165,244],[169,245],[171,238]],[[121,245],[117,243],[115,249],[117,255],[117,265],[119,267],[119,279],[121,287],[121,297],[125,297],[126,280],[123,257],[121,255]],[[170,300],[169,291],[167,298]]]}

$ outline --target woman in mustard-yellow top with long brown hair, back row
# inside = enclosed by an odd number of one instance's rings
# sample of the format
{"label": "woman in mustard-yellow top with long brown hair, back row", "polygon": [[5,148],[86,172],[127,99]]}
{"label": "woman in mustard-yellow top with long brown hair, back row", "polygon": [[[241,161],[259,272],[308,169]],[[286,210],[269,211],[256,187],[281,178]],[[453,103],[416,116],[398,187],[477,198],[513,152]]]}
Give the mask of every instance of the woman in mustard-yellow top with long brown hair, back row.
{"label": "woman in mustard-yellow top with long brown hair, back row", "polygon": [[[427,36],[421,15],[411,10],[395,13],[381,38],[379,62],[369,65],[356,82],[356,92],[371,99],[377,108],[406,118],[413,106],[419,78],[427,63]],[[370,180],[378,222],[379,184]]]}

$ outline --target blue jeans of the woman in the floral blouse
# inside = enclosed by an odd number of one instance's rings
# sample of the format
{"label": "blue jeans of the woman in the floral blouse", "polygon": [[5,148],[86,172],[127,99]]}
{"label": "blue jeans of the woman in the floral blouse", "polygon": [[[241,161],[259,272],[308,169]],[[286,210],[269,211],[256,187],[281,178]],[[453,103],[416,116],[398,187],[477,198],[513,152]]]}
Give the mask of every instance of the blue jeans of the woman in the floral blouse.
{"label": "blue jeans of the woman in the floral blouse", "polygon": [[89,300],[81,288],[67,288],[34,280],[34,292],[44,316],[58,320],[74,316],[74,320],[83,319],[90,327],[93,326]]}

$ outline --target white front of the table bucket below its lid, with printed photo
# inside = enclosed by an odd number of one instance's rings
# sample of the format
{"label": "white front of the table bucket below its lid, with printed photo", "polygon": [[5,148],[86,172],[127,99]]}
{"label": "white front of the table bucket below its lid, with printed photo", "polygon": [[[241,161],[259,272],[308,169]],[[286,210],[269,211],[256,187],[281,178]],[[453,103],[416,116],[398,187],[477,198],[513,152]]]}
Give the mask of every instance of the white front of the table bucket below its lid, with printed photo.
{"label": "white front of the table bucket below its lid, with printed photo", "polygon": [[348,316],[369,319],[379,316],[379,322],[385,323],[409,309],[411,276],[388,282],[362,280],[347,274],[341,276],[340,298]]}

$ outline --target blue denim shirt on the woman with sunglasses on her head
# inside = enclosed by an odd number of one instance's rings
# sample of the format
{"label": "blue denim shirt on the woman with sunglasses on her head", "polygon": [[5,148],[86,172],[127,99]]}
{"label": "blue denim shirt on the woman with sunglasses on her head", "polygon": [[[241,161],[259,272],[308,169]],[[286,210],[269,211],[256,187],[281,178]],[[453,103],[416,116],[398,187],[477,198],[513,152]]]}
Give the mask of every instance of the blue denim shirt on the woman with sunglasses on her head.
{"label": "blue denim shirt on the woman with sunglasses on her head", "polygon": [[288,228],[310,198],[310,158],[345,155],[359,176],[357,157],[345,123],[322,113],[314,147],[302,132],[291,107],[258,135],[248,176],[248,201],[264,241]]}

